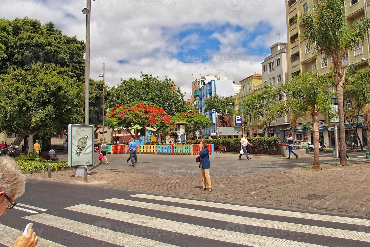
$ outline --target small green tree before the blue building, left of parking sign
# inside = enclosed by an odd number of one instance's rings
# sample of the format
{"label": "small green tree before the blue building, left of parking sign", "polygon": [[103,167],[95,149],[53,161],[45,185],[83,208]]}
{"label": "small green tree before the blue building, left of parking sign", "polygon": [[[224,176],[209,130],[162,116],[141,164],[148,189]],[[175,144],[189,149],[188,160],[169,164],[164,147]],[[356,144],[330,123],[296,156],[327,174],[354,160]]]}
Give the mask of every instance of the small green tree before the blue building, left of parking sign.
{"label": "small green tree before the blue building, left of parking sign", "polygon": [[213,94],[203,102],[205,105],[204,111],[215,111],[222,125],[220,127],[227,127],[227,115],[228,113],[233,112],[231,103],[235,104],[235,100],[232,96],[222,97],[217,94]]}

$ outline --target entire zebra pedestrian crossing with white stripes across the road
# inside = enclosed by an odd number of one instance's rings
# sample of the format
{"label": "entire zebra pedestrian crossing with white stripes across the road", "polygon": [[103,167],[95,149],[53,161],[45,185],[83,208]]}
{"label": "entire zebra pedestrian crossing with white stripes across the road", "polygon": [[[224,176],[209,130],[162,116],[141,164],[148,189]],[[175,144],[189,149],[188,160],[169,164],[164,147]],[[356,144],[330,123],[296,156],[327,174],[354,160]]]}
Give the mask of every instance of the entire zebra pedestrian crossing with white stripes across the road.
{"label": "entire zebra pedestrian crossing with white stripes across the road", "polygon": [[[22,206],[23,209],[30,208],[33,209],[30,211],[36,212],[23,211],[30,215],[22,217],[34,223],[34,227],[51,227],[55,230],[68,231],[70,234],[80,236],[78,237],[80,239],[93,238],[100,241],[101,246],[104,246],[104,243],[127,247],[185,246],[178,241],[181,239],[179,236],[194,238],[194,246],[200,246],[199,243],[205,240],[231,244],[229,246],[311,247],[329,246],[328,241],[336,243],[337,246],[337,243],[342,241],[353,242],[354,246],[370,245],[370,233],[366,231],[369,229],[370,220],[362,218],[300,213],[148,194],[134,194],[124,199],[108,198],[101,200],[97,205],[99,206],[78,204],[65,207],[63,210],[68,217],[56,216],[48,213],[47,209],[31,205],[17,206]],[[222,213],[219,213],[220,211]],[[73,215],[83,217],[79,217],[80,220],[77,221]],[[90,217],[99,221],[91,224],[91,221],[81,220],[81,218]],[[189,218],[196,220],[189,220]],[[114,227],[117,222],[122,226],[121,229]],[[155,234],[123,231],[123,226],[129,228],[133,225],[172,234],[171,237],[166,238],[159,236],[159,233],[155,236]],[[248,230],[248,227],[272,231],[271,234],[253,232]],[[21,230],[0,224],[1,233],[6,233],[0,239],[0,244],[12,246],[14,240],[21,235]],[[302,237],[284,237],[284,234],[276,234],[276,232],[289,232],[291,236]],[[41,234],[38,246],[64,245],[49,241],[45,234]]]}

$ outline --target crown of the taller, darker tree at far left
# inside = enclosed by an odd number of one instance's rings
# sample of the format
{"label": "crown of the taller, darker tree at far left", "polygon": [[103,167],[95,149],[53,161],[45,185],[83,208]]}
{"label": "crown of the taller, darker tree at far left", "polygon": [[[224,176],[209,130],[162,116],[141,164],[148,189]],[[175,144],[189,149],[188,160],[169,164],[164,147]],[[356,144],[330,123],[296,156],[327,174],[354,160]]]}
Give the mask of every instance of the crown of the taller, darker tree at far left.
{"label": "crown of the taller, darker tree at far left", "polygon": [[40,63],[64,67],[60,73],[70,73],[77,81],[84,81],[84,41],[63,35],[52,22],[41,25],[28,19],[0,19],[0,72]]}

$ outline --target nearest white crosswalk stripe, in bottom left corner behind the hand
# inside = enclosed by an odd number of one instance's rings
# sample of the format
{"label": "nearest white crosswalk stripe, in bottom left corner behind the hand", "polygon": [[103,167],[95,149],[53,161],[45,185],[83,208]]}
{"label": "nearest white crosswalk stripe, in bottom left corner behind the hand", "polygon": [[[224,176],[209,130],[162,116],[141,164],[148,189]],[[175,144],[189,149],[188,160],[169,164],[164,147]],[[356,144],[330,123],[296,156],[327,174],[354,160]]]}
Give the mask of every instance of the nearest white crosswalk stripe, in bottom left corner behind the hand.
{"label": "nearest white crosswalk stripe, in bottom left corner behind the hand", "polygon": [[[11,228],[9,226],[4,226],[2,224],[0,224],[0,232],[1,232],[0,243],[6,246],[13,246],[16,238],[21,236],[23,233],[23,231]],[[37,246],[38,247],[63,247],[64,245],[51,242],[44,238],[40,238],[38,240]]]}

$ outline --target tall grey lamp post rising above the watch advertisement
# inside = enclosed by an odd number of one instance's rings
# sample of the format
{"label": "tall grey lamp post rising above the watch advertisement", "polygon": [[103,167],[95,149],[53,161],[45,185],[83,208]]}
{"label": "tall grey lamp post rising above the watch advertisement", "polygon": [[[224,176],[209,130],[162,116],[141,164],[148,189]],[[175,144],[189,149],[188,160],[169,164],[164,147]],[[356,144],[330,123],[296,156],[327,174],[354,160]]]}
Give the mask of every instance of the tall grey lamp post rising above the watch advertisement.
{"label": "tall grey lamp post rising above the watch advertisement", "polygon": [[[96,1],[96,0],[92,0]],[[82,13],[86,15],[86,46],[85,46],[85,125],[90,124],[90,9],[91,0],[86,1]]]}

